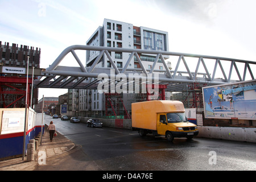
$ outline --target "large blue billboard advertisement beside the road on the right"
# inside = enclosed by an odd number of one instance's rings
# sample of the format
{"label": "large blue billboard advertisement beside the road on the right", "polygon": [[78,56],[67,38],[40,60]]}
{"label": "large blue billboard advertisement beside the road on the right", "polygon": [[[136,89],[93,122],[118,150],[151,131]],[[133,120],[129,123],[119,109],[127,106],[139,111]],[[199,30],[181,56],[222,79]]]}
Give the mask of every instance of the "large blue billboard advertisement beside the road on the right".
{"label": "large blue billboard advertisement beside the road on the right", "polygon": [[256,120],[256,80],[203,88],[205,118]]}

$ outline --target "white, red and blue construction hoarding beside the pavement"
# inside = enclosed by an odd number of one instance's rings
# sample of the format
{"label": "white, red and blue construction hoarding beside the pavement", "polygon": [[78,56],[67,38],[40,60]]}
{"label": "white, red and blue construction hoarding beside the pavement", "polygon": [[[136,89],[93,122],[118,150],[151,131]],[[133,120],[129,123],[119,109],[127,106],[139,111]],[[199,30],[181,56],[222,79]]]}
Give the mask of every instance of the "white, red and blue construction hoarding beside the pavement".
{"label": "white, red and blue construction hoarding beside the pavement", "polygon": [[[0,160],[21,156],[25,124],[25,108],[0,108]],[[26,150],[29,140],[44,132],[44,115],[29,108],[26,122]]]}

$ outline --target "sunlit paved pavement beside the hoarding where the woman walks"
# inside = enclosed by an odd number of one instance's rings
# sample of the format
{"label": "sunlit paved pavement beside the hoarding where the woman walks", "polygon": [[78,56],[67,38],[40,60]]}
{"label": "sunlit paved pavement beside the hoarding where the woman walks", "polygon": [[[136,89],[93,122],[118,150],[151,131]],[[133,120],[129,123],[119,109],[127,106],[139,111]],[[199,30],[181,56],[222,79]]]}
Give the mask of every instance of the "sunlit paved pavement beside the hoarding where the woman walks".
{"label": "sunlit paved pavement beside the hoarding where the woman walks", "polygon": [[36,150],[34,161],[27,161],[27,156],[0,161],[0,171],[98,171],[97,164],[89,158],[81,147],[65,138],[60,133],[49,139],[45,127],[42,144]]}

